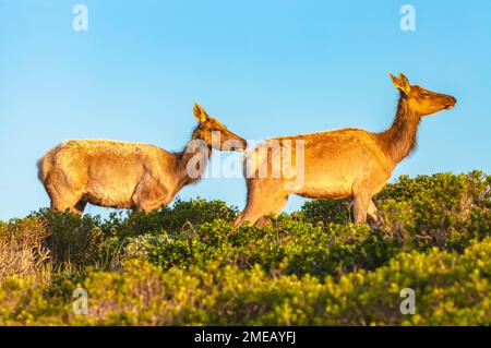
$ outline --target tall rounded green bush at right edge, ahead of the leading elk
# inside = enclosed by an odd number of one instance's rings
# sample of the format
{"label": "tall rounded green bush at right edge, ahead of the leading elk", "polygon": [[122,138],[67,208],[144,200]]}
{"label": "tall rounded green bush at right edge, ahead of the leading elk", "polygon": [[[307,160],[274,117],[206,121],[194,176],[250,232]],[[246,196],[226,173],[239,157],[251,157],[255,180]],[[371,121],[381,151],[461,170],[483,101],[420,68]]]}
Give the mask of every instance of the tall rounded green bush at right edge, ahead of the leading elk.
{"label": "tall rounded green bush at right edge, ahead of the leading elk", "polygon": [[[479,171],[419,176],[412,180],[403,176],[397,183],[387,185],[378,200],[385,202],[384,216],[404,209],[406,218],[396,224],[418,248],[462,250],[470,240],[490,232],[491,176]],[[385,229],[394,231],[397,227],[388,224]]]}

